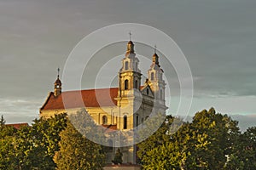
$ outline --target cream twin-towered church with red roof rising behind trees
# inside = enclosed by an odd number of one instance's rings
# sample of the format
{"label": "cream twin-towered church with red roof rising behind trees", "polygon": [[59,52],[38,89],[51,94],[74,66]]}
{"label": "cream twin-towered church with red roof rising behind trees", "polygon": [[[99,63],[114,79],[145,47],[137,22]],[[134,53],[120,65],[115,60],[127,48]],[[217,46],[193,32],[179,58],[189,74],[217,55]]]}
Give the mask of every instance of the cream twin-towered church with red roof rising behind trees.
{"label": "cream twin-towered church with red roof rising behind trees", "polygon": [[[119,86],[116,88],[64,92],[61,91],[58,74],[54,91],[49,93],[40,108],[40,117],[49,118],[64,112],[72,114],[84,108],[97,125],[125,132],[143,124],[152,112],[166,113],[164,71],[160,68],[160,59],[155,50],[152,64],[148,65],[147,79],[142,83],[139,59],[130,40],[117,74]],[[109,150],[107,163],[111,163],[117,150],[114,142],[110,142],[113,149]],[[135,145],[122,147],[121,151],[123,163],[137,164]]]}

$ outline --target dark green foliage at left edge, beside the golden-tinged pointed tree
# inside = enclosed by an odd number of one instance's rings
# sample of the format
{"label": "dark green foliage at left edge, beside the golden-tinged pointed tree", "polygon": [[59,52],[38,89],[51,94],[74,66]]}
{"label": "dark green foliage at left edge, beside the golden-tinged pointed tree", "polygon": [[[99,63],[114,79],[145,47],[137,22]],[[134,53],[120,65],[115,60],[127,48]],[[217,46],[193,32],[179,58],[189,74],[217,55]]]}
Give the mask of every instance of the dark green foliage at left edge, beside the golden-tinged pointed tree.
{"label": "dark green foliage at left edge, beside the golden-tinged pointed tree", "polygon": [[[59,150],[59,133],[67,115],[35,120],[32,127],[1,128],[0,169],[55,169],[53,156]],[[3,135],[4,134],[4,135]]]}

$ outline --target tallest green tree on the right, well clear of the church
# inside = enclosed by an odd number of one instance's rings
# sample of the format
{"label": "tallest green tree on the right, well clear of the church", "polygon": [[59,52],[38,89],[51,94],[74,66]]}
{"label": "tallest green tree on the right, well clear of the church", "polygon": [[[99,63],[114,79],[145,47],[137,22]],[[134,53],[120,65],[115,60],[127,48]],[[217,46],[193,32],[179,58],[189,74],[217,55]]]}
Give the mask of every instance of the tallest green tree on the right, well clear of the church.
{"label": "tallest green tree on the right, well clear of the church", "polygon": [[216,114],[213,108],[196,113],[190,127],[190,156],[185,167],[223,169],[240,133],[237,124],[227,115]]}

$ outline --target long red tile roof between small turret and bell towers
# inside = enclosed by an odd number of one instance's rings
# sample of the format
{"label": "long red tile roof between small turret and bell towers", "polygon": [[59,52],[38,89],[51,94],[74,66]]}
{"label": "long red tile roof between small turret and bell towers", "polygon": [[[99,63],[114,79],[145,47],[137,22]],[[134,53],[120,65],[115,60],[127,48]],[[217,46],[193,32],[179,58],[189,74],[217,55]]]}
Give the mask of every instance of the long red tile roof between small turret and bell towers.
{"label": "long red tile roof between small turret and bell towers", "polygon": [[[68,109],[80,107],[114,106],[119,88],[100,88],[62,92],[54,96],[51,92],[41,110]],[[65,103],[65,106],[64,106]]]}

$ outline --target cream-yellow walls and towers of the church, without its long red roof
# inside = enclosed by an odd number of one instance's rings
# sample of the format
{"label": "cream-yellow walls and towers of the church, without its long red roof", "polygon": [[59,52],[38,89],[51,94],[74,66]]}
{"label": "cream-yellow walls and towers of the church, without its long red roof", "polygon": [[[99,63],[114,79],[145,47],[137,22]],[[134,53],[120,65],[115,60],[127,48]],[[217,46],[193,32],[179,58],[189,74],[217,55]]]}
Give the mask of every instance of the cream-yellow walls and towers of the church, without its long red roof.
{"label": "cream-yellow walls and towers of the church, without its long red roof", "polygon": [[[160,69],[158,56],[154,54],[153,63],[148,70],[148,79],[141,85],[141,71],[138,68],[139,59],[134,53],[133,42],[128,42],[125,58],[122,60],[119,70],[119,87],[116,96],[113,97],[116,104],[107,106],[86,107],[85,110],[93,118],[97,125],[111,125],[116,130],[128,131],[142,124],[148,116],[154,112],[166,112],[165,105],[165,82],[162,80],[163,71]],[[67,113],[67,115],[77,113],[83,105],[67,108],[60,105],[58,99],[61,97],[61,81],[59,77],[55,82],[55,93],[49,94],[45,104],[40,109],[40,116],[48,118],[55,114]],[[72,92],[68,92],[72,93]],[[47,107],[51,102],[51,107]],[[54,102],[58,102],[55,105]],[[136,147],[134,145],[121,148],[123,162],[136,164]],[[113,160],[115,144],[113,150],[108,152],[108,160]]]}

